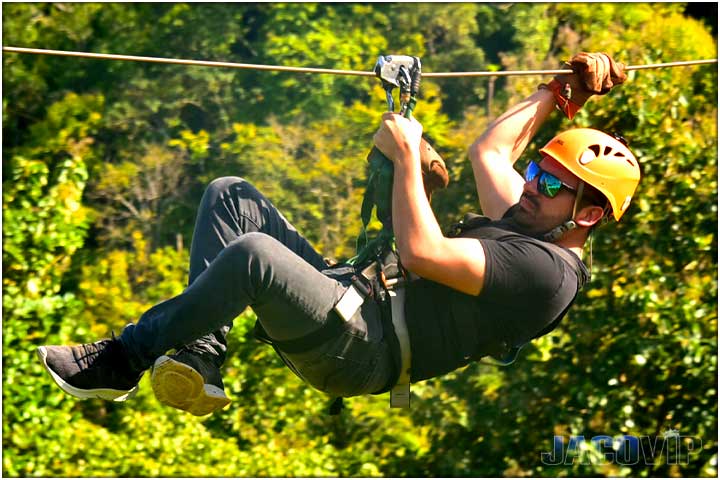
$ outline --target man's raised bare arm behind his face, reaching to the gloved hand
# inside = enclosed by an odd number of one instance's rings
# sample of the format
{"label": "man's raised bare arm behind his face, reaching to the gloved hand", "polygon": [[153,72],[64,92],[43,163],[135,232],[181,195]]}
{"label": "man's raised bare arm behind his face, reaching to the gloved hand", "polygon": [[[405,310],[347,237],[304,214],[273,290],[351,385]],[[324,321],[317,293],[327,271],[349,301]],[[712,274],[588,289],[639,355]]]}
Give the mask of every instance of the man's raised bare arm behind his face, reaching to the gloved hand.
{"label": "man's raised bare arm behind his face, reaching to the gloved hand", "polygon": [[483,214],[500,219],[518,202],[525,181],[513,165],[555,107],[552,92],[535,92],[503,113],[469,149]]}

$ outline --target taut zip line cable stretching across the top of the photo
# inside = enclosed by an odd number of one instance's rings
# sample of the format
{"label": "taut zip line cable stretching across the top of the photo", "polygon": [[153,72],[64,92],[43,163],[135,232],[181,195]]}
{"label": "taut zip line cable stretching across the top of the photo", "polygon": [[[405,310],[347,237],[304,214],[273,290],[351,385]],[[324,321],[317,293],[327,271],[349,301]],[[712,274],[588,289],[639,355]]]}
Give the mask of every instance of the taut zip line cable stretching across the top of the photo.
{"label": "taut zip line cable stretching across the top of the photo", "polygon": [[[375,72],[365,72],[360,70],[335,70],[330,68],[307,68],[307,67],[287,67],[282,65],[258,65],[252,63],[233,63],[233,62],[214,62],[208,60],[187,60],[182,58],[161,58],[161,57],[141,57],[136,55],[116,55],[112,53],[90,53],[90,52],[72,52],[66,50],[44,50],[39,48],[24,47],[2,47],[3,52],[12,53],[29,53],[34,55],[57,55],[64,57],[94,58],[98,60],[121,60],[129,62],[148,62],[148,63],[164,63],[173,65],[190,65],[196,67],[221,67],[236,68],[247,70],[270,70],[280,72],[295,73],[321,73],[332,75],[356,75],[363,77],[375,78]],[[705,65],[717,63],[717,58],[708,60],[690,60],[685,62],[670,63],[653,63],[648,65],[628,65],[625,71],[645,70],[649,68],[666,68],[666,67],[685,67],[690,65]],[[573,73],[570,69],[558,70],[501,70],[501,71],[485,71],[485,72],[445,72],[433,73],[423,72],[423,78],[452,78],[452,77],[502,77],[511,75],[560,75],[563,73]]]}

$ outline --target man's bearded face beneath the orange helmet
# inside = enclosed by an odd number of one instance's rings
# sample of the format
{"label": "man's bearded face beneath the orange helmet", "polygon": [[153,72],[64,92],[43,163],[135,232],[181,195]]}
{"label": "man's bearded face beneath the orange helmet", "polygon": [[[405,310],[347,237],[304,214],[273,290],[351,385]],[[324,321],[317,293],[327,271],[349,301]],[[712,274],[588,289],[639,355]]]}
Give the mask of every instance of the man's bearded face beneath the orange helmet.
{"label": "man's bearded face beneath the orange helmet", "polygon": [[[580,180],[568,169],[550,157],[543,157],[539,162],[540,168],[557,178],[569,187],[577,189]],[[518,202],[513,220],[530,235],[537,235],[550,231],[564,223],[572,215],[575,204],[575,192],[561,188],[553,198],[548,198],[538,191],[537,175],[532,181],[525,182],[523,193]]]}

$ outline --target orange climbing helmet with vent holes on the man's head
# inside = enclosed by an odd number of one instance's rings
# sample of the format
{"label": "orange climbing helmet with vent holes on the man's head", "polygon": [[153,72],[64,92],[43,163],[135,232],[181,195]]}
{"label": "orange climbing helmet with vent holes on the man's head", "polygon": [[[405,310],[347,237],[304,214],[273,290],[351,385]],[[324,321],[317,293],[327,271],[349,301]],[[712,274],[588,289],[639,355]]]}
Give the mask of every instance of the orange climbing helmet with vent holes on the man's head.
{"label": "orange climbing helmet with vent holes on the man's head", "polygon": [[640,183],[640,166],[624,143],[599,130],[576,128],[557,135],[540,151],[597,188],[620,220]]}

